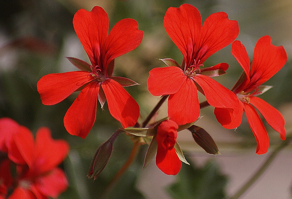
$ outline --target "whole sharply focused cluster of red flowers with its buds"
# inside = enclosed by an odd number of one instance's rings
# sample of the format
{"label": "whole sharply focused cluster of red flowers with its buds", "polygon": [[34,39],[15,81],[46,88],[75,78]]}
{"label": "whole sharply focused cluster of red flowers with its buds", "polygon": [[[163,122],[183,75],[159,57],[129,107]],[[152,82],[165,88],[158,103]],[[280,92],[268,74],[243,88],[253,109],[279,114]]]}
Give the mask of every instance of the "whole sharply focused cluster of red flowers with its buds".
{"label": "whole sharply focused cluster of red flowers with its buds", "polygon": [[[240,41],[238,22],[229,20],[225,12],[217,12],[207,17],[202,25],[200,12],[193,5],[183,4],[179,8],[170,7],[164,17],[164,27],[183,55],[181,65],[173,59],[161,59],[167,66],[154,68],[149,72],[148,91],[154,96],[162,96],[161,103],[168,98],[168,118],[153,121],[159,108],[151,112],[142,124],[137,123],[140,108],[123,87],[137,85],[125,77],[113,76],[114,59],[137,48],[143,31],[133,19],[120,20],[108,33],[109,19],[98,6],[88,12],[78,10],[73,19],[75,32],[87,53],[91,64],[80,59],[68,60],[80,71],[48,74],[37,83],[37,89],[44,105],[56,104],[75,91],[81,91],[64,116],[64,126],[72,134],[87,136],[96,118],[97,99],[103,108],[107,101],[110,114],[122,125],[122,131],[130,136],[150,138],[145,156],[146,166],[156,153],[156,165],[162,172],[176,175],[181,161],[187,163],[176,141],[177,132],[188,129],[195,141],[210,153],[218,153],[210,135],[193,124],[200,116],[200,108],[214,107],[217,121],[227,129],[238,127],[243,111],[257,141],[257,154],[266,153],[269,138],[255,108],[274,130],[285,139],[286,130],[283,116],[275,108],[256,97],[270,87],[261,84],[278,72],[287,61],[283,46],[271,44],[271,38],[264,36],[255,45],[253,61]],[[226,73],[227,63],[204,67],[203,63],[215,52],[231,44],[232,55],[242,66],[243,73],[235,86],[229,90],[213,77]],[[252,65],[252,67],[251,67]],[[198,91],[206,97],[200,104]],[[158,103],[161,105],[161,103]],[[134,126],[134,127],[132,127]],[[110,157],[112,144],[117,134],[101,145],[92,162],[89,176],[98,175]],[[143,139],[142,139],[143,140]],[[98,158],[106,154],[107,158]]]}

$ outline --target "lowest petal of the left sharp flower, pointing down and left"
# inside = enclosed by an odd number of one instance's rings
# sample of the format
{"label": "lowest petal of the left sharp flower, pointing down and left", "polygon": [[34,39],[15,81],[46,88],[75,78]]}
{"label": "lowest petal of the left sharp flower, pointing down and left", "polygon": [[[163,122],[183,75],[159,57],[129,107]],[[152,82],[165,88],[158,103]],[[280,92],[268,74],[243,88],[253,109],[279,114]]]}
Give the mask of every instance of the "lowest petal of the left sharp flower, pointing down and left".
{"label": "lowest petal of the left sharp flower, pointing down and left", "polygon": [[99,87],[97,81],[87,84],[66,112],[64,126],[71,135],[84,139],[91,130],[96,117]]}

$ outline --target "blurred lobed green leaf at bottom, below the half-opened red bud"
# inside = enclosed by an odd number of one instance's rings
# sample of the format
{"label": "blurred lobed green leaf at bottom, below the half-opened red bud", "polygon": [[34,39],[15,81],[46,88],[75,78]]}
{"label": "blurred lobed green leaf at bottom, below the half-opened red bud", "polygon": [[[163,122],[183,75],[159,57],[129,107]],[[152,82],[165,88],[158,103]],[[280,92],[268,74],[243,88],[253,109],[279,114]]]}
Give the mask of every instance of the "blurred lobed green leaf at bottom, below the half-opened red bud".
{"label": "blurred lobed green leaf at bottom, below the half-opened red bud", "polygon": [[[190,162],[190,161],[189,161]],[[223,199],[227,177],[219,172],[214,162],[203,168],[182,164],[176,182],[166,188],[173,199]]]}

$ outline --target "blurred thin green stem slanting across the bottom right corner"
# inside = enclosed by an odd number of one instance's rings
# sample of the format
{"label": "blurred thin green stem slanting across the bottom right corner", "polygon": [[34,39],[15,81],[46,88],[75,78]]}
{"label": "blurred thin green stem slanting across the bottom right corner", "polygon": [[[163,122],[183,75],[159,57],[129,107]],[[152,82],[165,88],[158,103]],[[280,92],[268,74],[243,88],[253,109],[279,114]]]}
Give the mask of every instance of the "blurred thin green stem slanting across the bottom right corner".
{"label": "blurred thin green stem slanting across the bottom right corner", "polygon": [[290,135],[287,137],[285,141],[282,142],[266,159],[266,162],[262,164],[262,166],[258,169],[257,172],[231,197],[228,199],[238,199],[242,196],[242,194],[249,189],[249,187],[252,186],[252,184],[263,174],[263,172],[266,171],[266,169],[269,167],[269,165],[273,162],[273,160],[276,158],[278,153],[282,151],[285,147],[287,147],[290,144],[292,136]]}

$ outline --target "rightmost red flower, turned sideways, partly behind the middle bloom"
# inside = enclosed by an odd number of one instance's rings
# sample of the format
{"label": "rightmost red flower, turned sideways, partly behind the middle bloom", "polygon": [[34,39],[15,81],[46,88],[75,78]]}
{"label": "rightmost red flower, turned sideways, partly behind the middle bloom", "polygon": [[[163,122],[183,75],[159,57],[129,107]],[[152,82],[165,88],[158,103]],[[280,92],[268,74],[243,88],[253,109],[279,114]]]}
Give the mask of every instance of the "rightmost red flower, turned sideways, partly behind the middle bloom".
{"label": "rightmost red flower, turned sideways, partly behind the middle bloom", "polygon": [[267,123],[278,133],[282,140],[285,140],[286,129],[283,115],[266,101],[256,97],[270,87],[261,86],[276,74],[287,62],[287,53],[283,46],[271,44],[271,37],[266,35],[257,41],[253,52],[252,67],[249,56],[244,45],[240,41],[234,41],[231,45],[231,53],[242,67],[244,73],[239,78],[232,91],[237,95],[240,109],[234,116],[232,123],[225,123],[225,118],[232,117],[228,112],[215,108],[214,113],[218,122],[228,129],[239,126],[242,122],[243,111],[246,114],[249,126],[252,129],[257,141],[257,154],[264,154],[268,151],[269,137],[262,120],[255,110],[262,114]]}

